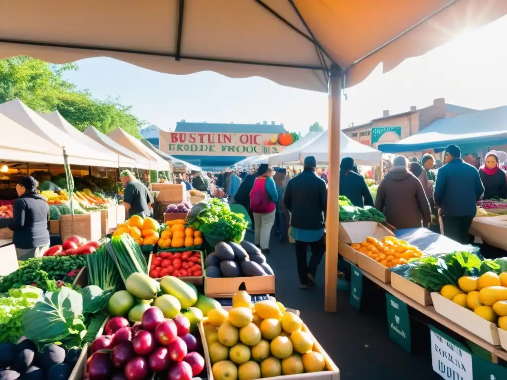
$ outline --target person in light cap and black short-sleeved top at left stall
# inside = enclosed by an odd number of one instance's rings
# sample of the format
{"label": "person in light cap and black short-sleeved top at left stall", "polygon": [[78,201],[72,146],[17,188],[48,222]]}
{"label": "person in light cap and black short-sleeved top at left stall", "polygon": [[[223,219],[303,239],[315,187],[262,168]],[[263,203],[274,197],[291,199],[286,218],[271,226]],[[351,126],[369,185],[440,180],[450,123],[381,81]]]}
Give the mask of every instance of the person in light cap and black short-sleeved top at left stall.
{"label": "person in light cap and black short-sleeved top at left stall", "polygon": [[148,188],[137,180],[130,170],[122,171],[120,180],[125,188],[123,204],[129,216],[150,216],[154,200]]}

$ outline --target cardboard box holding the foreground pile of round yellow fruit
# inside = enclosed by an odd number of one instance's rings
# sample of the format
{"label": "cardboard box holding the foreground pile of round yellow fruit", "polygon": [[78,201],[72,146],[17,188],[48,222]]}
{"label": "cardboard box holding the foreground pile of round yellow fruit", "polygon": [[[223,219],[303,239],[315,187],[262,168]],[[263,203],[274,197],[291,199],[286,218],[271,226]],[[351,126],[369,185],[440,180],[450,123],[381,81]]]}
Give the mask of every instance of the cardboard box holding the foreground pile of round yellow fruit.
{"label": "cardboard box holding the foreground pile of round yellow fruit", "polygon": [[[209,359],[209,349],[206,343],[206,336],[204,334],[204,326],[207,324],[207,318],[204,318],[202,322],[199,322],[199,333],[201,335],[202,348],[204,351],[204,361],[206,362],[206,370],[208,372],[208,380],[214,380],[213,372],[211,370],[211,360]],[[325,360],[325,371],[312,372],[312,373],[300,373],[297,375],[282,375],[270,377],[272,380],[340,380],[340,370],[336,364],[331,360],[327,352],[318,344],[315,337],[312,335],[308,327],[303,324],[303,331],[308,332],[313,339],[312,351],[319,352],[324,356]]]}

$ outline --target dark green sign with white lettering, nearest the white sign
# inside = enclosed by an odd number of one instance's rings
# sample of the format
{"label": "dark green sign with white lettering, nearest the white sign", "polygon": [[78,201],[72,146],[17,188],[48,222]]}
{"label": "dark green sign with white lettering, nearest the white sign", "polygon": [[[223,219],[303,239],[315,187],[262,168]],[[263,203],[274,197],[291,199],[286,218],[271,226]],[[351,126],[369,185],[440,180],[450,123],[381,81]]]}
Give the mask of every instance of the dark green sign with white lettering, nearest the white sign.
{"label": "dark green sign with white lettering, nearest the white sign", "polygon": [[411,352],[410,316],[407,304],[389,293],[385,293],[385,299],[389,338]]}

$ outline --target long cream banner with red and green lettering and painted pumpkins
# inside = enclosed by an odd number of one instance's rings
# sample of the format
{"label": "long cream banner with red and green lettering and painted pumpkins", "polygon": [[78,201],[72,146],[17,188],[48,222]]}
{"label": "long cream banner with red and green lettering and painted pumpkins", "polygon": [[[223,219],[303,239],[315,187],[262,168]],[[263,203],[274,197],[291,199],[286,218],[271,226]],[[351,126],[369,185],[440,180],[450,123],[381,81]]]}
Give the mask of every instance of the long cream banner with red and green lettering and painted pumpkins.
{"label": "long cream banner with red and green lettering and painted pumpkins", "polygon": [[271,133],[207,133],[160,131],[159,149],[175,156],[258,156],[280,153]]}

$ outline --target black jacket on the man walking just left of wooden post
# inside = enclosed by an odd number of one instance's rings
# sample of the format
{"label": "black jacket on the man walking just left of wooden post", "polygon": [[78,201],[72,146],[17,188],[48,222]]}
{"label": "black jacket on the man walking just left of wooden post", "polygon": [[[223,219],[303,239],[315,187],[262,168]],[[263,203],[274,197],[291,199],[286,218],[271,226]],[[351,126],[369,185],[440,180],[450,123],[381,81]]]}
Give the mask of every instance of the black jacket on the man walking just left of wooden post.
{"label": "black jacket on the man walking just left of wooden post", "polygon": [[288,181],[283,204],[291,212],[291,226],[301,230],[325,227],[328,188],[323,179],[310,170]]}

